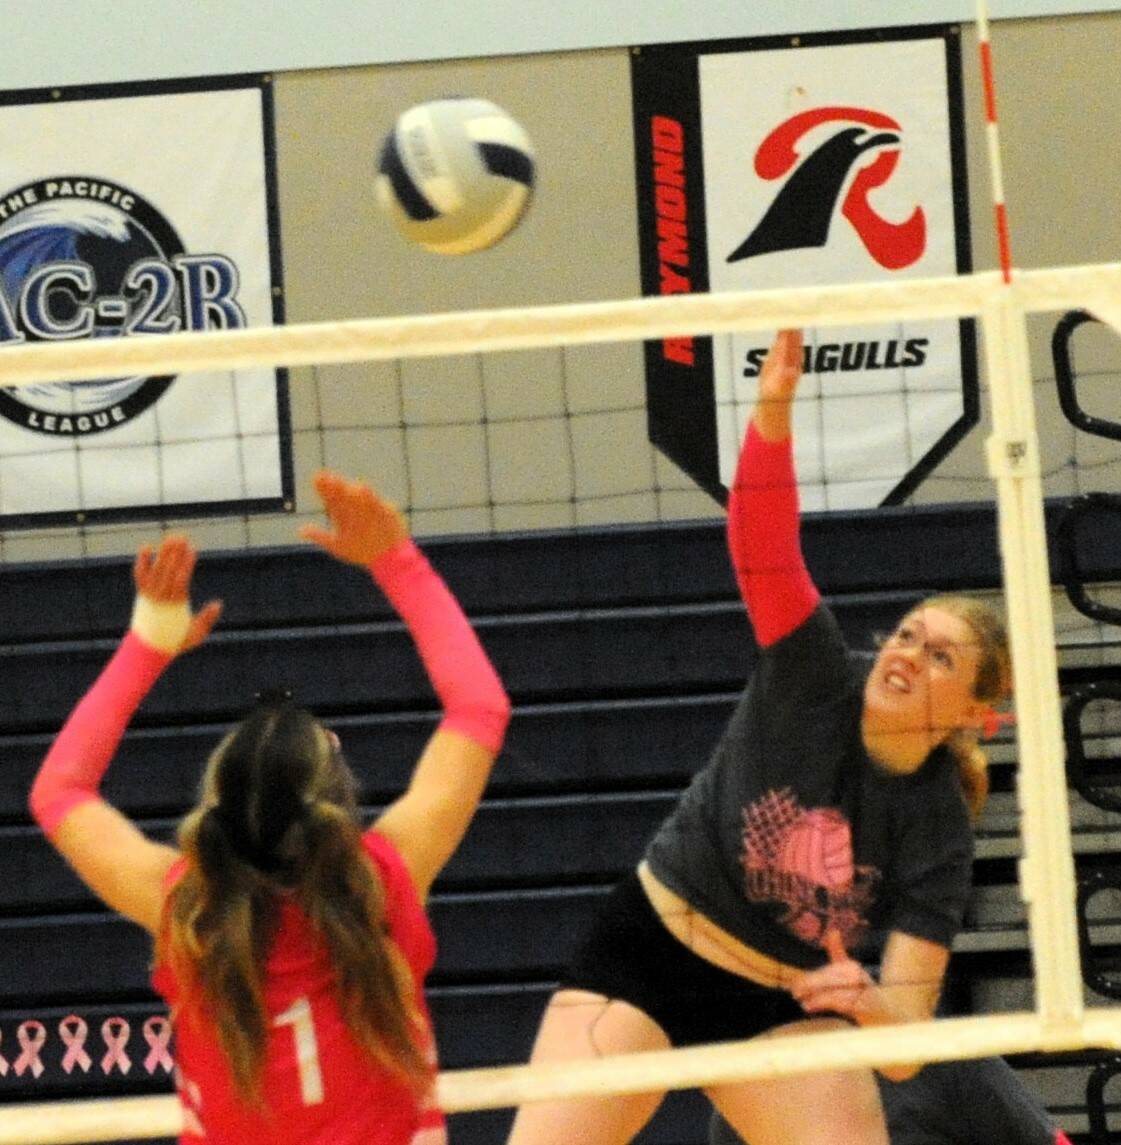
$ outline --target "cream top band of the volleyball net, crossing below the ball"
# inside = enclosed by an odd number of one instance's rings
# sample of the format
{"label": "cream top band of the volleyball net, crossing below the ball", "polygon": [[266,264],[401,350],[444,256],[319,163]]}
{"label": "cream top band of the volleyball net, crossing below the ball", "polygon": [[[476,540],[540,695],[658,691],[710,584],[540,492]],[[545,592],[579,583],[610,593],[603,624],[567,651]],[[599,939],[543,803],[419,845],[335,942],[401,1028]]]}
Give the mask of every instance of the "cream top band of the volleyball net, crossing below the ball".
{"label": "cream top band of the volleyball net, crossing below the ball", "polygon": [[[998,289],[1026,310],[1076,307],[1118,314],[1121,263],[942,278],[846,283],[771,291],[677,294],[523,309],[252,326],[199,333],[90,338],[0,347],[0,386],[267,365],[323,365],[627,342],[773,330],[777,326],[898,324],[979,314]],[[1112,308],[1112,309],[1111,309]]]}

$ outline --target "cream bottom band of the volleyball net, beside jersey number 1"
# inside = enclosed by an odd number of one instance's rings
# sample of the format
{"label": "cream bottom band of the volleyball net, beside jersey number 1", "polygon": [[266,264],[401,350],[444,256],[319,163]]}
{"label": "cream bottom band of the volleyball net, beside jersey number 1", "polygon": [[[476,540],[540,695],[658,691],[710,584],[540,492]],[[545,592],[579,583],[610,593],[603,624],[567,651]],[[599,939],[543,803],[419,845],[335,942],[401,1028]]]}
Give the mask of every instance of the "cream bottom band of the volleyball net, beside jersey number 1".
{"label": "cream bottom band of the volleyball net, beside jersey number 1", "polygon": [[[870,1068],[877,1063],[899,1065],[1083,1049],[1121,1049],[1121,1008],[1090,1010],[1081,1022],[1066,1026],[1045,1026],[1034,1013],[940,1018],[586,1061],[460,1069],[440,1075],[437,1098],[445,1112],[466,1113],[529,1101],[661,1092],[826,1069]],[[176,1099],[163,1096],[7,1105],[0,1115],[0,1145],[171,1137],[180,1131],[179,1118]]]}

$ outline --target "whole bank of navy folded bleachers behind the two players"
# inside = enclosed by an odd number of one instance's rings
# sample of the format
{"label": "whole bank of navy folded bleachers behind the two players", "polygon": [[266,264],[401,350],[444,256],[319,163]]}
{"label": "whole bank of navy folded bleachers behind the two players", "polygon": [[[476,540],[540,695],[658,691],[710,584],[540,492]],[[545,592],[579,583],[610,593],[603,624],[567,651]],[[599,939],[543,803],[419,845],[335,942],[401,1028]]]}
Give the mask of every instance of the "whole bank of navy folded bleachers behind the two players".
{"label": "whole bank of navy folded bleachers behind the two players", "polygon": [[[1061,512],[1048,510],[1052,544]],[[855,645],[869,646],[871,633],[929,591],[1000,584],[994,516],[984,506],[811,518],[804,539],[815,579]],[[518,1063],[601,895],[705,763],[751,669],[752,645],[717,524],[460,538],[425,548],[515,704],[485,804],[431,902],[441,1058],[445,1068]],[[1112,539],[1095,532],[1079,560],[1087,579],[1118,579],[1121,530]],[[434,702],[406,633],[369,581],[310,550],[205,554],[196,579],[197,600],[222,597],[226,616],[152,692],[109,773],[106,797],[169,837],[227,721],[258,689],[281,684],[338,731],[371,811],[400,791],[433,726]],[[892,590],[881,590],[884,583]],[[147,937],[92,899],[25,811],[52,734],[109,655],[131,605],[124,560],[0,570],[0,1100],[171,1087]],[[1063,650],[1064,689],[1121,679],[1121,657],[1111,665],[1107,653],[1105,661]],[[948,990],[958,1010],[1031,1005],[1008,737],[994,755],[976,902]],[[1094,769],[1108,782],[1108,765]],[[1080,795],[1072,807],[1080,874],[1113,870],[1121,819]],[[1106,910],[1089,926],[1099,966],[1121,966],[1119,923],[1121,911]],[[73,1021],[60,1034],[69,1016],[85,1025],[81,1037]],[[120,1022],[105,1025],[112,1018],[128,1024],[127,1037]],[[1089,1140],[1087,1080],[1103,1059],[1033,1055],[1016,1064],[1074,1138]],[[458,1115],[452,1140],[500,1142],[508,1120],[506,1111]],[[679,1095],[640,1142],[700,1145],[705,1128],[704,1103]]]}

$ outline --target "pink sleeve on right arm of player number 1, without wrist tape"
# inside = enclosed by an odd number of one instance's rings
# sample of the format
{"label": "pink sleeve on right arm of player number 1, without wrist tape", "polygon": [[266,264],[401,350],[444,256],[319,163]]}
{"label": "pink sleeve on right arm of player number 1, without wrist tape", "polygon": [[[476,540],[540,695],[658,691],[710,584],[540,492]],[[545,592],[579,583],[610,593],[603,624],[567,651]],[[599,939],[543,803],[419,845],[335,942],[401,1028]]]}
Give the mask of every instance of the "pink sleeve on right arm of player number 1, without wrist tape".
{"label": "pink sleeve on right arm of player number 1, without wrist tape", "polygon": [[411,540],[379,556],[370,572],[412,634],[443,705],[440,726],[497,755],[510,700],[448,586]]}

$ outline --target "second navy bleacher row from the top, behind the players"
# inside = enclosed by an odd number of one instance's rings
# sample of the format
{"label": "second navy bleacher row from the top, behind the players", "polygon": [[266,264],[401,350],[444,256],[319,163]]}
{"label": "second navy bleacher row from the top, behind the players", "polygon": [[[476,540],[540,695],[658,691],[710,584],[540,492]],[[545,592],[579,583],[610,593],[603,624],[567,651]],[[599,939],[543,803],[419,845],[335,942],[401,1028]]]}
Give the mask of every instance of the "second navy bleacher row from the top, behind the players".
{"label": "second navy bleacher row from the top, behind the players", "polygon": [[[914,594],[842,598],[855,642],[890,629]],[[734,689],[750,672],[750,630],[737,601],[544,614],[476,622],[515,703],[688,695]],[[61,724],[109,657],[109,641],[0,647],[0,728]],[[431,709],[434,700],[398,623],[342,629],[221,632],[160,679],[137,722],[198,722],[243,713],[253,695],[286,685],[332,712]]]}

